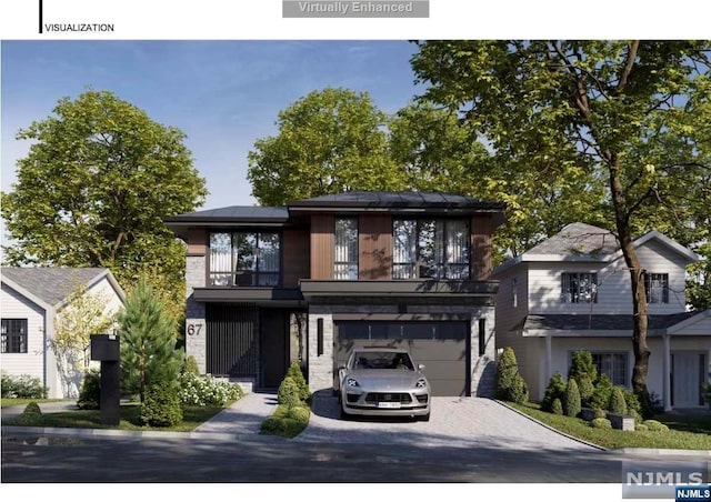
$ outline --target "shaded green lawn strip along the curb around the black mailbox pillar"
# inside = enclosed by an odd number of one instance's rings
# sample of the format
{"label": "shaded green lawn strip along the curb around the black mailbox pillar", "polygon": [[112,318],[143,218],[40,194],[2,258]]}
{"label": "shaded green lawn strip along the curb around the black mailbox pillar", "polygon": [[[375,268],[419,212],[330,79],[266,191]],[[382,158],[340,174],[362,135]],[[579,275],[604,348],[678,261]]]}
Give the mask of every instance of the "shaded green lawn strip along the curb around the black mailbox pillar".
{"label": "shaded green lawn strip along the curb around the black mailbox pillar", "polygon": [[[229,406],[231,403],[228,403]],[[74,429],[120,429],[127,431],[177,431],[189,432],[208,421],[227,406],[188,406],[183,408],[182,422],[172,428],[151,428],[140,423],[140,405],[122,404],[120,408],[119,425],[101,423],[99,410],[77,410],[58,413],[44,413],[37,418],[32,426],[74,428]],[[16,419],[2,421],[3,425],[14,425]]]}

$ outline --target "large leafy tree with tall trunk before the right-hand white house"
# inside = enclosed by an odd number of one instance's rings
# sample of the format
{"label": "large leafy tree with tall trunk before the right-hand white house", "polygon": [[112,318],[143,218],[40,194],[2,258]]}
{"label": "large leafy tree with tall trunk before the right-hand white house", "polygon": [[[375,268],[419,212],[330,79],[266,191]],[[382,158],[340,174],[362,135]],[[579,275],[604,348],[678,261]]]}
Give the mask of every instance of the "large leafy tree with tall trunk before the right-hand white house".
{"label": "large leafy tree with tall trunk before the right-hand white house", "polygon": [[711,164],[710,50],[707,41],[425,41],[412,58],[425,98],[461,113],[521,179],[582,179],[583,197],[604,182],[595,211],[629,269],[632,385],[643,396],[648,311],[632,241],[672,220],[697,240],[689,194]]}

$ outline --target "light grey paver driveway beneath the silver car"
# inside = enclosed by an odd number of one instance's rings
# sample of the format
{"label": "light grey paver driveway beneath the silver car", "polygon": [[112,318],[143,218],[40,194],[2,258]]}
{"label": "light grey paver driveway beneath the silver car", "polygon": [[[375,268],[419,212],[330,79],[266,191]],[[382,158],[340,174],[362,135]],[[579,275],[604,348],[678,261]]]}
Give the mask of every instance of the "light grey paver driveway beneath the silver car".
{"label": "light grey paver driveway beneath the silver car", "polygon": [[598,451],[482,398],[432,398],[430,421],[415,422],[394,418],[340,420],[338,399],[319,396],[309,426],[293,441]]}

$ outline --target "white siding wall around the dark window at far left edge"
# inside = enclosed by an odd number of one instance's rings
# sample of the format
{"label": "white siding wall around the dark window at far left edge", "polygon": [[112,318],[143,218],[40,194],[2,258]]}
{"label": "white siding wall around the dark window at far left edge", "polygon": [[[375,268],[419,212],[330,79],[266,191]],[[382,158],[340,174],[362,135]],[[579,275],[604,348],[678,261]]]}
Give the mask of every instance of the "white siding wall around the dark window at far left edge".
{"label": "white siding wall around the dark window at far left edge", "polygon": [[0,293],[2,319],[27,319],[28,348],[22,354],[0,354],[0,369],[13,375],[29,374],[44,380],[44,310],[6,284]]}

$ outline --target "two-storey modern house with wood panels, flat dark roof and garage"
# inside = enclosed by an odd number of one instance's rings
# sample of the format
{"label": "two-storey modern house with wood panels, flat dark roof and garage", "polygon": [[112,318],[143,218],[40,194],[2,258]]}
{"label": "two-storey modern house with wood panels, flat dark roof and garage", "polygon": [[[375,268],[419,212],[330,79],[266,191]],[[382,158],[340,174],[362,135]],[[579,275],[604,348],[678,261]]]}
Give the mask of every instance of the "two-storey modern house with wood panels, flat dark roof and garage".
{"label": "two-storey modern house with wood panels, flat dark roof and garage", "polygon": [[439,395],[492,391],[491,234],[504,205],[347,192],[166,220],[188,244],[186,347],[202,372],[331,390],[353,345],[408,347]]}

